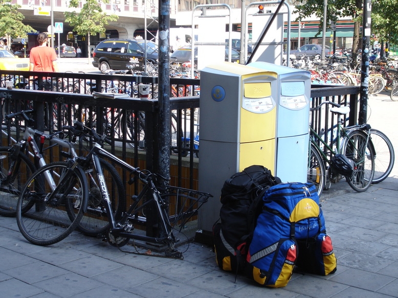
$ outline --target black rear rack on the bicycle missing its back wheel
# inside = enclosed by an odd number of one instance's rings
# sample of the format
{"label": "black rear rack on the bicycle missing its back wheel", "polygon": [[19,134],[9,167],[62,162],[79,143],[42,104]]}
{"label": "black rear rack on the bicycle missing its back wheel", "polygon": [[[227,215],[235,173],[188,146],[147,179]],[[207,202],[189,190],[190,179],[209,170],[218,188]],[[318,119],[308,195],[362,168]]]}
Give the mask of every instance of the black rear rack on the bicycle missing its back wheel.
{"label": "black rear rack on the bicycle missing its back wheel", "polygon": [[179,232],[193,216],[197,215],[197,211],[207,202],[207,199],[212,197],[208,193],[174,186],[168,186],[167,193],[161,196],[167,198],[170,223],[179,226]]}

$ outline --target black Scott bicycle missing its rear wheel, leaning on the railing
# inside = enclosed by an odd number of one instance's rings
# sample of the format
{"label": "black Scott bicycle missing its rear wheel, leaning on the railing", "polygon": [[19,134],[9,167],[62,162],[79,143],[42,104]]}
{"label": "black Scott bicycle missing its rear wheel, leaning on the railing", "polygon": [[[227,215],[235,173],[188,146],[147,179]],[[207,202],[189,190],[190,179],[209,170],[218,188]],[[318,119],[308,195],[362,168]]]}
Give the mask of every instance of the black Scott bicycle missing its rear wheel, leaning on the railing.
{"label": "black Scott bicycle missing its rear wheel, leaning on the railing", "polygon": [[[85,209],[87,206],[87,197],[84,196],[84,194],[87,193],[85,188],[88,187],[86,182],[83,181],[85,177],[81,174],[83,173],[82,167],[84,168],[85,164],[92,161],[97,175],[102,177],[102,169],[99,164],[99,160],[102,157],[128,171],[130,173],[130,183],[132,183],[134,179],[139,179],[143,184],[139,194],[132,196],[133,203],[120,220],[116,220],[113,215],[107,183],[103,182],[101,184],[101,200],[105,204],[110,225],[109,229],[106,231],[106,235],[104,235],[106,240],[111,245],[118,247],[127,244],[129,239],[164,244],[167,245],[165,249],[166,256],[182,258],[182,253],[175,249],[175,243],[178,242],[178,239],[176,239],[174,235],[172,223],[179,224],[181,231],[185,223],[192,216],[197,214],[198,209],[200,209],[212,195],[195,190],[169,186],[165,182],[167,180],[165,177],[147,170],[140,170],[139,168],[125,163],[101,147],[103,143],[107,141],[106,135],[99,136],[94,129],[86,127],[78,121],[75,121],[74,130],[72,130],[72,132],[75,135],[79,135],[81,138],[93,137],[95,141],[94,146],[86,157],[77,158],[75,161],[70,160],[67,163],[50,164],[33,174],[21,192],[17,205],[17,223],[24,237],[34,244],[49,245],[62,240],[66,237],[64,235],[65,233],[72,233],[73,228],[76,226],[76,224],[74,225],[75,221],[81,218],[80,213],[76,211]],[[45,176],[51,175],[54,171],[59,173],[61,177],[60,181],[54,185],[43,186],[42,181],[46,180]],[[100,180],[102,181],[101,178]],[[69,198],[71,195],[67,193],[67,191],[74,189],[76,185],[75,181],[80,182],[80,184],[77,185],[77,189],[81,190],[81,194],[77,195],[74,193],[74,195],[80,199],[79,201]],[[160,185],[159,188],[155,185],[156,183]],[[65,200],[65,197],[68,197],[68,199]],[[174,205],[176,212],[175,215],[171,217],[168,214],[168,201],[170,197],[175,197]],[[45,203],[48,209],[58,208],[64,201],[65,208],[63,213],[56,209],[56,214],[59,216],[57,221],[53,220],[50,212],[43,214],[43,212],[35,212],[33,208],[30,210],[30,214],[27,214],[27,212],[24,212],[22,206],[25,201],[29,202],[33,199],[36,204],[40,205],[41,203]],[[135,224],[146,222],[143,211],[150,206],[154,208],[157,218],[159,219],[159,236],[144,236],[132,233]],[[45,217],[41,217],[38,222],[35,213],[39,213],[39,215],[43,214]],[[74,216],[75,218],[73,218]],[[65,220],[65,217],[69,218],[69,221],[72,223],[68,227],[68,230],[64,229],[65,231],[63,231],[63,234],[59,235],[54,231],[54,224],[62,226],[62,221]],[[41,225],[41,222],[45,222],[45,224],[43,224],[44,226]],[[59,222],[61,222],[61,224],[59,224]],[[52,233],[55,234],[53,235]]]}

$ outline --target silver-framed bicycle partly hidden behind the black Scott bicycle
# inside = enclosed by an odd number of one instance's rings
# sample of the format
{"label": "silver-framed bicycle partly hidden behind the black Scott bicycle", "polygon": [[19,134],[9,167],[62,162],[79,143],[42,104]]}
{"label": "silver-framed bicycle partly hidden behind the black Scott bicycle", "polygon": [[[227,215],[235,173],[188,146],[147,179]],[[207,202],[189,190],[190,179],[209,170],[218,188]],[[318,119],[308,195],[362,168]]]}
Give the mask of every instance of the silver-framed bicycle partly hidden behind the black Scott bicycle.
{"label": "silver-framed bicycle partly hidden behind the black Scott bicycle", "polygon": [[[16,215],[16,205],[20,190],[36,170],[31,159],[24,154],[27,151],[28,145],[32,149],[32,152],[29,151],[29,153],[33,158],[37,159],[39,167],[46,165],[44,151],[56,145],[63,148],[63,151],[60,152],[61,156],[78,158],[75,150],[76,136],[73,136],[72,141],[69,142],[63,140],[61,137],[56,137],[63,136],[64,133],[62,131],[46,134],[34,130],[32,128],[33,120],[28,116],[31,112],[33,112],[31,109],[23,110],[6,116],[6,119],[9,120],[23,117],[26,122],[26,128],[19,142],[15,141],[15,144],[10,147],[0,147],[0,165],[2,166],[2,172],[0,173],[0,214],[3,216],[13,217]],[[65,126],[64,129],[68,129],[68,126]],[[36,143],[35,137],[39,137],[40,144]],[[47,140],[53,144],[44,148],[43,144]],[[120,218],[125,206],[124,186],[119,174],[112,165],[103,159],[100,160],[100,165],[103,169],[105,180],[109,181],[109,185],[112,186],[114,216]],[[91,165],[87,165],[84,170],[90,187],[89,203],[87,212],[84,213],[78,228],[85,235],[97,236],[108,228],[104,206],[99,201],[100,182]]]}

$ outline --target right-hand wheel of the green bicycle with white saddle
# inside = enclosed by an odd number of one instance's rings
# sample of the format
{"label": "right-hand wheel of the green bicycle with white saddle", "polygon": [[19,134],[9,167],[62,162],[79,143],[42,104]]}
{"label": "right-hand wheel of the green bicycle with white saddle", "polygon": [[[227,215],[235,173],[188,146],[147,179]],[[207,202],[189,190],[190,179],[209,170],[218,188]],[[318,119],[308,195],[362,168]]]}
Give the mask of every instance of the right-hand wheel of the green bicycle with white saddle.
{"label": "right-hand wheel of the green bicycle with white saddle", "polygon": [[349,186],[357,191],[366,191],[373,180],[374,152],[371,140],[367,140],[367,134],[361,130],[353,130],[343,140],[343,154],[355,163],[351,177],[347,177]]}

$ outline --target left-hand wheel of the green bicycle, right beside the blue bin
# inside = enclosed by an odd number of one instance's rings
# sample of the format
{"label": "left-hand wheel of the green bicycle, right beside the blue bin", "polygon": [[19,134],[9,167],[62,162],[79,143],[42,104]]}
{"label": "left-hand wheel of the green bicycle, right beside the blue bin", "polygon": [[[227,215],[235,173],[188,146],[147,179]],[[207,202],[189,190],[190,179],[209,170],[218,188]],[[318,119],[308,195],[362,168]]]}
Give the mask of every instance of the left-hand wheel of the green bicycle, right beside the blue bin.
{"label": "left-hand wheel of the green bicycle, right beside the blue bin", "polygon": [[323,188],[325,187],[325,173],[326,170],[322,156],[319,154],[317,148],[311,144],[308,156],[307,182],[312,182],[315,185],[318,196],[321,196]]}

